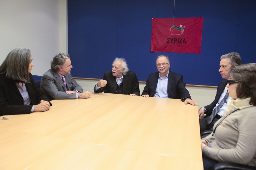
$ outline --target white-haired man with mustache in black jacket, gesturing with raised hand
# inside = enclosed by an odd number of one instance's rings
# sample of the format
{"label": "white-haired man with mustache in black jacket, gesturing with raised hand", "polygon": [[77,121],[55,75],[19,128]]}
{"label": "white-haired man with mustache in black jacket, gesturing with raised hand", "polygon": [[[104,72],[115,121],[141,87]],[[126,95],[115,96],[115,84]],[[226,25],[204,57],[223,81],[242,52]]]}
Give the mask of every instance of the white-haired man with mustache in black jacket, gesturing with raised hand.
{"label": "white-haired man with mustache in black jacket, gesturing with raised hand", "polygon": [[137,75],[129,71],[124,58],[116,58],[113,61],[112,71],[105,72],[103,80],[99,80],[93,90],[95,93],[105,92],[140,96]]}

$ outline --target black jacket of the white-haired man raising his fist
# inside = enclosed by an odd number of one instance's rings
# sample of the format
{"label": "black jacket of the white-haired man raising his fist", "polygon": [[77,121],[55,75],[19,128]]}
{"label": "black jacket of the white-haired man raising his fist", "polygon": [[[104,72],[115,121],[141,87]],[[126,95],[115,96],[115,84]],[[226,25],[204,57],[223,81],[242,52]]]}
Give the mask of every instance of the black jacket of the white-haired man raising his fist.
{"label": "black jacket of the white-haired man raising his fist", "polygon": [[[105,87],[101,87],[98,90],[95,90],[95,85],[93,90],[95,93],[104,92],[104,93],[116,93],[116,77],[112,75],[112,71],[107,71],[104,73],[103,80],[107,80],[108,83]],[[123,94],[136,94],[140,96],[139,81],[136,73],[128,71],[123,77]]]}

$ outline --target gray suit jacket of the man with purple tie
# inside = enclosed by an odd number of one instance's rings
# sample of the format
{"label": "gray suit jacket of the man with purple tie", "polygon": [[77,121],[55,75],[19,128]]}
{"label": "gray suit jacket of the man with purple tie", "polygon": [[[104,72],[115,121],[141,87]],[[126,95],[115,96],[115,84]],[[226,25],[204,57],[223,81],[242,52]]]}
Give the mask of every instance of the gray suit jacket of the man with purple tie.
{"label": "gray suit jacket of the man with purple tie", "polygon": [[44,93],[49,100],[76,99],[76,93],[66,94],[65,91],[77,90],[82,93],[82,87],[77,84],[77,82],[72,78],[72,75],[70,73],[65,75],[65,79],[66,86],[64,85],[59,74],[50,69],[42,76],[40,89],[44,90]]}

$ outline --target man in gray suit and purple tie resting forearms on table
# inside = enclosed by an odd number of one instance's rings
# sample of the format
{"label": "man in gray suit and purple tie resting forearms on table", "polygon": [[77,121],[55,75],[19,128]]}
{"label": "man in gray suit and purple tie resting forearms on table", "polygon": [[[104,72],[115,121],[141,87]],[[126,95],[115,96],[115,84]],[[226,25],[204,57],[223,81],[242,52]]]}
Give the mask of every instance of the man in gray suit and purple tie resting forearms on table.
{"label": "man in gray suit and purple tie resting forearms on table", "polygon": [[73,79],[70,71],[73,66],[69,54],[58,53],[51,61],[51,69],[44,73],[40,89],[50,100],[89,98],[90,92],[83,92]]}

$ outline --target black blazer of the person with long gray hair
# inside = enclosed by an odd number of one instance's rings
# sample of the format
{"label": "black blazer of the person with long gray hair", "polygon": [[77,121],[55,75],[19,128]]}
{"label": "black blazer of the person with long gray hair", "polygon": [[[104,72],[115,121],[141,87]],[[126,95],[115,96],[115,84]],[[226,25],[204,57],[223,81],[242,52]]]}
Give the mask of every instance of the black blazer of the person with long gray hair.
{"label": "black blazer of the person with long gray hair", "polygon": [[[30,114],[33,105],[37,105],[41,100],[49,101],[35,84],[32,74],[29,73],[31,83],[26,83],[31,103],[24,106],[23,98],[17,88],[15,81],[0,74],[0,116]],[[51,105],[51,103],[50,103]]]}

